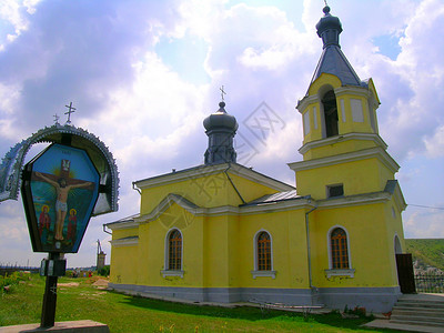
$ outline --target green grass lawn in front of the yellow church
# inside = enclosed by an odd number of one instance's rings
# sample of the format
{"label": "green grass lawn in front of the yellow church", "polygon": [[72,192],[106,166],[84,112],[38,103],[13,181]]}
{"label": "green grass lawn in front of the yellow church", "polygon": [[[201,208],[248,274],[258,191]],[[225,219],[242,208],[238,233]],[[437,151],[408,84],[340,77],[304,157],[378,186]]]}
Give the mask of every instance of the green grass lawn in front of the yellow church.
{"label": "green grass lawn in front of the yellow church", "polygon": [[[79,283],[63,286],[63,283]],[[337,313],[307,317],[258,307],[189,305],[129,296],[92,286],[90,279],[59,279],[56,321],[93,320],[114,332],[382,332],[360,325],[370,319]],[[0,326],[40,323],[44,279],[30,280],[0,294]],[[387,331],[389,332],[389,331]]]}

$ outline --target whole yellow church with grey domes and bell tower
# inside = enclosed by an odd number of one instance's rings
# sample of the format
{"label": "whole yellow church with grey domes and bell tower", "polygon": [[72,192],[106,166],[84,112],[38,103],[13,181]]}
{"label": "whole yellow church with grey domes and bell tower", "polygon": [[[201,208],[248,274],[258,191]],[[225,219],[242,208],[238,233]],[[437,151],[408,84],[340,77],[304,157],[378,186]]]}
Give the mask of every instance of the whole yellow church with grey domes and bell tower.
{"label": "whole yellow church with grey domes and bell tower", "polygon": [[225,103],[203,125],[204,164],[144,180],[140,213],[112,231],[117,291],[195,302],[392,309],[406,208],[398,164],[377,129],[380,100],[339,43],[324,8],[323,51],[305,97],[296,188],[236,163],[238,122]]}

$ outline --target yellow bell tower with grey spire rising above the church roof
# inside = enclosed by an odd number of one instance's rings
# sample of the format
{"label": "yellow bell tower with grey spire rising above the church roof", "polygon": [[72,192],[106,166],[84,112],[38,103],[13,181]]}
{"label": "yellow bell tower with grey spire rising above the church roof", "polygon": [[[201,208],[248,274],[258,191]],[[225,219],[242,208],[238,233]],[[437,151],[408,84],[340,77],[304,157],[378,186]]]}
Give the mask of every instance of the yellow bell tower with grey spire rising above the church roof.
{"label": "yellow bell tower with grey spire rising above the church roof", "polygon": [[373,80],[362,81],[340,46],[342,24],[330,13],[316,24],[323,50],[305,97],[302,162],[290,163],[300,195],[314,199],[384,191],[397,163],[377,129],[380,100]]}

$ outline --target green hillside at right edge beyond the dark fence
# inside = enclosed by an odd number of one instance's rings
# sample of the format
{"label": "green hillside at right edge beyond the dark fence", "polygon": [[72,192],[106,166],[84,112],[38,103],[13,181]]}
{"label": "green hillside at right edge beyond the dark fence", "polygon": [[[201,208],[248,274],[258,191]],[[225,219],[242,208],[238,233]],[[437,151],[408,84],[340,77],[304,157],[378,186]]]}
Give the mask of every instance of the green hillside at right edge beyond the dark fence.
{"label": "green hillside at right edge beyond the dark fence", "polygon": [[444,239],[406,239],[405,245],[413,261],[444,270]]}

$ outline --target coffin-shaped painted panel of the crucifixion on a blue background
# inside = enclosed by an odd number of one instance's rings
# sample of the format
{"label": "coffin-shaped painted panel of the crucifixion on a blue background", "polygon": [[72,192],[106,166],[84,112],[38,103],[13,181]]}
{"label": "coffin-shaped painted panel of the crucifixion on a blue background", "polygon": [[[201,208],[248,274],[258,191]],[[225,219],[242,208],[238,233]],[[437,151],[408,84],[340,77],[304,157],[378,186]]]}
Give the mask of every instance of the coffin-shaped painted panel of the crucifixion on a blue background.
{"label": "coffin-shaped painted panel of the crucifixion on a blue background", "polygon": [[98,188],[99,174],[82,150],[53,144],[33,161],[31,193],[42,251],[78,251]]}

